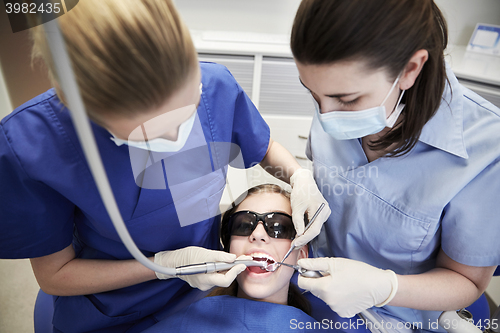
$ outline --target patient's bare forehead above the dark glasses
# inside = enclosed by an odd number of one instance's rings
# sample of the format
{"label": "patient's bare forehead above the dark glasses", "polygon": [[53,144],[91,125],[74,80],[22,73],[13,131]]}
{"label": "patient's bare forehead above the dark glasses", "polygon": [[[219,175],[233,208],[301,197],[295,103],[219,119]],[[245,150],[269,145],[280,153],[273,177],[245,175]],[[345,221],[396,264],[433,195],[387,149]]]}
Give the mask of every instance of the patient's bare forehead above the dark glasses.
{"label": "patient's bare forehead above the dark glasses", "polygon": [[252,194],[243,200],[237,211],[251,210],[256,213],[283,212],[292,215],[290,200],[280,193],[264,192]]}

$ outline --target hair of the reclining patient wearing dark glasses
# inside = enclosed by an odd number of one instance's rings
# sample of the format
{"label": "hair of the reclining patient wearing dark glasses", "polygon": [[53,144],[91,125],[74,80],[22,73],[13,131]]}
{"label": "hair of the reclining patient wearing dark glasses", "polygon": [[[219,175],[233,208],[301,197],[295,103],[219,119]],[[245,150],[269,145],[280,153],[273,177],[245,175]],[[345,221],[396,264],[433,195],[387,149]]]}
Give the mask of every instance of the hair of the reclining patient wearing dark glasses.
{"label": "hair of the reclining patient wearing dark glasses", "polygon": [[[290,200],[290,193],[282,189],[280,186],[274,184],[262,184],[254,186],[248,190],[245,196],[248,197],[259,193],[279,193],[283,195],[285,198]],[[241,199],[242,199],[241,197],[238,198],[236,202],[241,203],[243,201]],[[233,215],[233,213],[237,209],[238,205],[233,203],[232,208],[226,211],[226,213],[222,217],[221,228],[220,228],[220,239],[222,247],[226,252],[229,252],[229,245],[231,241],[231,235],[229,235],[229,230],[228,230],[229,217]],[[222,296],[222,295],[236,297],[237,293],[238,293],[238,282],[234,280],[233,283],[227,288],[222,288],[222,287],[215,288],[210,294],[208,294],[207,297]],[[293,306],[297,309],[304,311],[308,315],[311,315],[311,304],[309,303],[307,298],[304,295],[302,295],[299,288],[297,288],[297,286],[295,286],[293,283],[290,283],[288,288],[287,305]]]}

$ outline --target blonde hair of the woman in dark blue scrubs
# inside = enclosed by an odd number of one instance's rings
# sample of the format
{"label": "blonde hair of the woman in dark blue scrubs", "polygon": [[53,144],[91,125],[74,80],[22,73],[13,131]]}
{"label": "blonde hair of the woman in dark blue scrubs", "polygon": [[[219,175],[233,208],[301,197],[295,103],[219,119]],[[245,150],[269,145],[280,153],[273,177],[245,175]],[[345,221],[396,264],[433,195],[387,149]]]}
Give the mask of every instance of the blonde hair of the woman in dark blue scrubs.
{"label": "blonde hair of the woman in dark blue scrubs", "polygon": [[[156,108],[195,73],[196,50],[171,0],[80,1],[59,24],[91,117]],[[64,101],[41,26],[32,39],[32,60],[44,61]]]}

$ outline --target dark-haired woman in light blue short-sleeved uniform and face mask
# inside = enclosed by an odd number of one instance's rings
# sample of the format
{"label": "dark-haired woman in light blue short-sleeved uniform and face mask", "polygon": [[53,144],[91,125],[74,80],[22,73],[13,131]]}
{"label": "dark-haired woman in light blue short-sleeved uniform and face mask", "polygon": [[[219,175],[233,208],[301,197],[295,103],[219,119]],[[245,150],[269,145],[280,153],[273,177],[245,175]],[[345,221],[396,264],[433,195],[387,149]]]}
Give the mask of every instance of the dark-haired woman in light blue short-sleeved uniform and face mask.
{"label": "dark-haired woman in light blue short-sleeved uniform and face mask", "polygon": [[[304,0],[291,47],[317,110],[308,155],[333,214],[301,288],[341,316],[422,323],[500,264],[500,111],[443,59],[432,0]],[[329,258],[338,257],[338,258]]]}

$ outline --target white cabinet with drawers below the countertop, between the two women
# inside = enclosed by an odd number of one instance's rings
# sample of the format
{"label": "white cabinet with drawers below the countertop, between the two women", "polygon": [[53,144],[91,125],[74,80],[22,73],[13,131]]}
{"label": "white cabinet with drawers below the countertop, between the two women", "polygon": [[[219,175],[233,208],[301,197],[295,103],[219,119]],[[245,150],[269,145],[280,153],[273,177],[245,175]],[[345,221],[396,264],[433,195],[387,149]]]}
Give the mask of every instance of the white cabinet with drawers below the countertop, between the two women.
{"label": "white cabinet with drawers below the countertop, between the two women", "polygon": [[[309,93],[300,84],[299,73],[291,57],[200,52],[199,59],[226,66],[258,107],[269,125],[271,138],[290,151],[303,168],[312,169],[305,149],[314,105]],[[230,168],[221,211],[246,189],[263,183],[289,188],[260,166],[248,170]]]}

